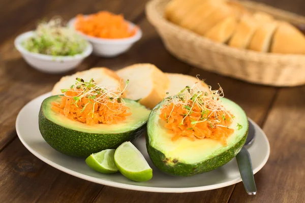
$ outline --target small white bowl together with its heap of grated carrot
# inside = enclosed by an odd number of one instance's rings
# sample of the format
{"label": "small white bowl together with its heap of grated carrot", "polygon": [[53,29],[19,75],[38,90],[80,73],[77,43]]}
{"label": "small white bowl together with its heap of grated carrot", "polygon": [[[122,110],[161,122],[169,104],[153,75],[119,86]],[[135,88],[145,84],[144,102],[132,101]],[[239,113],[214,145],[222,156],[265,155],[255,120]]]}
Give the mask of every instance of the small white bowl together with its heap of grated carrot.
{"label": "small white bowl together with its heap of grated carrot", "polygon": [[68,22],[93,45],[93,53],[103,57],[114,57],[128,51],[142,37],[141,29],[108,11],[95,14],[79,14]]}

